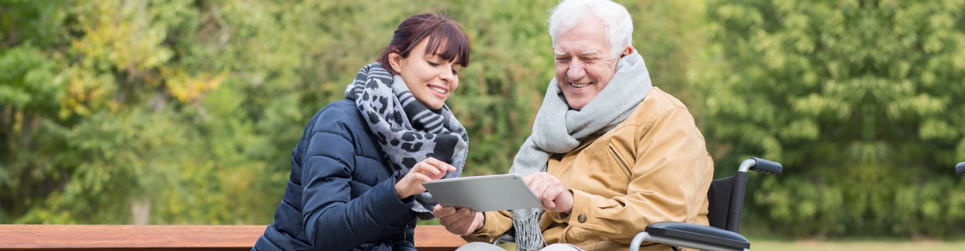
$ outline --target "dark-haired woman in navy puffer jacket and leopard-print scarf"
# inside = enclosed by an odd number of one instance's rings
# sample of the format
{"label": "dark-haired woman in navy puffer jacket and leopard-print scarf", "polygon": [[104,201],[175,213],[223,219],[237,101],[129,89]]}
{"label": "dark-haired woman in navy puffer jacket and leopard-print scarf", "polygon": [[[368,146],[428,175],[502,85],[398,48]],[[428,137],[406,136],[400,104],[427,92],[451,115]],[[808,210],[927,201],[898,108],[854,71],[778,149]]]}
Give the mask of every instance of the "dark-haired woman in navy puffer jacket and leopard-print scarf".
{"label": "dark-haired woman in navy puffer jacket and leopard-print scarf", "polygon": [[422,182],[458,177],[465,163],[469,138],[445,101],[468,62],[452,19],[402,21],[345,99],[305,128],[275,221],[252,250],[415,250],[416,216],[435,205]]}

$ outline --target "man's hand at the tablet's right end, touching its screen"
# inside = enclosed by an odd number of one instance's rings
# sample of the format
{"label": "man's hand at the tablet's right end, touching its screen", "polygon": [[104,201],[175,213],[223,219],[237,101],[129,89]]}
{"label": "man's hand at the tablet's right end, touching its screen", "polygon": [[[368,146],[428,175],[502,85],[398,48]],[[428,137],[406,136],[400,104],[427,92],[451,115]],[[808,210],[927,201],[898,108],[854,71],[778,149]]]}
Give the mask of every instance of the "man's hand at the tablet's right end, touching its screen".
{"label": "man's hand at the tablet's right end, touching its screen", "polygon": [[540,209],[569,213],[573,211],[573,192],[566,189],[563,181],[556,179],[549,173],[536,172],[523,177],[526,185],[542,202]]}

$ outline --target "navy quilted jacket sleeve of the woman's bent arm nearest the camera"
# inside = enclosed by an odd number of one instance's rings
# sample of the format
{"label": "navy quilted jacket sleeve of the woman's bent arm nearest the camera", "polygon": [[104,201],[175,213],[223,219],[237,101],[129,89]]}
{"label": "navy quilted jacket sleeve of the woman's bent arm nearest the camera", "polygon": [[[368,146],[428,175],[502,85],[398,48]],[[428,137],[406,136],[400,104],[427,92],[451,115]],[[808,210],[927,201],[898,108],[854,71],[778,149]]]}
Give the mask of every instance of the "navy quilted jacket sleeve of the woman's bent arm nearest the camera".
{"label": "navy quilted jacket sleeve of the woman's bent arm nearest the camera", "polygon": [[348,250],[375,240],[411,208],[411,197],[400,200],[396,193],[401,172],[350,199],[357,144],[351,133],[363,132],[345,111],[323,110],[309,131],[303,139],[302,222],[316,250]]}

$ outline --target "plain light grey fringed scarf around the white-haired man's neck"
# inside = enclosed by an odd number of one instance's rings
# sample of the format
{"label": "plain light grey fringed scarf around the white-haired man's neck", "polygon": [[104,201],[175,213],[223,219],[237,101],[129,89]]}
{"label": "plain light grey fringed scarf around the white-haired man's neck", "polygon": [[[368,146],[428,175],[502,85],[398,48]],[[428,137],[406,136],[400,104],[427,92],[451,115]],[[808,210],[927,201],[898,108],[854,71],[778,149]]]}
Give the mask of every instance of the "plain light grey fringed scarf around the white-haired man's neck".
{"label": "plain light grey fringed scarf around the white-haired man's neck", "polygon": [[[512,173],[526,176],[546,172],[553,153],[568,153],[589,136],[602,134],[620,125],[637,108],[652,88],[644,58],[633,51],[617,62],[617,73],[583,109],[572,110],[563,91],[550,81],[539,107],[533,134],[512,161]],[[577,167],[591,168],[591,167]],[[516,230],[517,250],[538,250],[545,244],[539,228],[541,209],[512,210],[512,226]]]}

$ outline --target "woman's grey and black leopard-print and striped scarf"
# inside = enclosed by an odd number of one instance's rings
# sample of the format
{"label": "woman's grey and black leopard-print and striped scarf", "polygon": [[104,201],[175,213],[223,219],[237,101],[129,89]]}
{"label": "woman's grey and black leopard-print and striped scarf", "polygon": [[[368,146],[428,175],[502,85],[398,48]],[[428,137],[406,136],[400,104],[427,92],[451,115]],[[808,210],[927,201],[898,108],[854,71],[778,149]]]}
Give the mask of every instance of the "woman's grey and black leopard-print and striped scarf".
{"label": "woman's grey and black leopard-print and striped scarf", "polygon": [[[399,75],[389,73],[378,63],[359,70],[355,80],[345,87],[345,98],[354,100],[362,111],[393,170],[408,173],[419,161],[435,157],[455,166],[455,172],[447,172],[443,179],[462,173],[469,136],[449,106],[428,109],[412,96]],[[415,200],[412,210],[420,219],[431,219],[431,209],[438,204],[435,199],[423,192],[416,194]]]}

